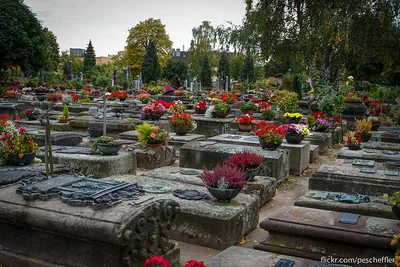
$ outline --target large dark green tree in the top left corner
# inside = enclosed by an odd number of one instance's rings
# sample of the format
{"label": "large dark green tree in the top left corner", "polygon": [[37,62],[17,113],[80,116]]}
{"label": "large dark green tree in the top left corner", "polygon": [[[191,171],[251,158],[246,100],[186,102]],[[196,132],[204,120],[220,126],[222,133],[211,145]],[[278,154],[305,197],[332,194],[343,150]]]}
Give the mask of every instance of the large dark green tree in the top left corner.
{"label": "large dark green tree in the top left corner", "polygon": [[26,74],[46,65],[46,37],[22,0],[0,0],[0,69],[18,64]]}

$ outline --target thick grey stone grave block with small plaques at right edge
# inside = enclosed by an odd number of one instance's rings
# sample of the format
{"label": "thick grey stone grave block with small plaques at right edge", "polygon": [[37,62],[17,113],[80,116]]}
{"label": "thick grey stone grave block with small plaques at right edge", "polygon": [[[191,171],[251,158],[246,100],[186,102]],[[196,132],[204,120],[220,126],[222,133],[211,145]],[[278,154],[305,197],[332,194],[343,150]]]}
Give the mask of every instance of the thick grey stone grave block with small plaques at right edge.
{"label": "thick grey stone grave block with small plaques at right edge", "polygon": [[[374,168],[374,167],[368,167]],[[347,165],[321,165],[310,177],[309,189],[344,193],[358,193],[381,196],[400,188],[400,176],[385,174],[386,170],[375,173],[360,172],[360,168]]]}

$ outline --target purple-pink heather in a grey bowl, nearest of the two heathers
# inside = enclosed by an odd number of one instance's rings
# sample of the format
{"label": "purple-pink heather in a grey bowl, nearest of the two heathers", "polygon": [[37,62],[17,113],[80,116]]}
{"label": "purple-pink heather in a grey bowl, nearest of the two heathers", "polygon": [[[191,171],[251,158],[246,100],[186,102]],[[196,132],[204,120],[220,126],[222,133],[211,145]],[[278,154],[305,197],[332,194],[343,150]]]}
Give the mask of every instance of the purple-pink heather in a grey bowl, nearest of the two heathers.
{"label": "purple-pink heather in a grey bowl, nearest of the two heathers", "polygon": [[246,184],[244,172],[226,164],[217,165],[211,171],[204,169],[200,175],[207,190],[219,201],[230,202]]}

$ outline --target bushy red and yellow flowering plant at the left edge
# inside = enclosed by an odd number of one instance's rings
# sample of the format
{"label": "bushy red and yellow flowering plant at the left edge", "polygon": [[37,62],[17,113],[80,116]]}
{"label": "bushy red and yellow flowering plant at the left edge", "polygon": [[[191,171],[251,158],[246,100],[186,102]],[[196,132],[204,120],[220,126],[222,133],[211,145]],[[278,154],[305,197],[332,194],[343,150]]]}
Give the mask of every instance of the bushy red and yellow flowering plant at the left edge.
{"label": "bushy red and yellow flowering plant at the left edge", "polygon": [[26,153],[39,151],[38,145],[27,133],[26,129],[18,128],[11,120],[5,120],[0,138],[0,157],[6,161],[9,155],[22,158]]}

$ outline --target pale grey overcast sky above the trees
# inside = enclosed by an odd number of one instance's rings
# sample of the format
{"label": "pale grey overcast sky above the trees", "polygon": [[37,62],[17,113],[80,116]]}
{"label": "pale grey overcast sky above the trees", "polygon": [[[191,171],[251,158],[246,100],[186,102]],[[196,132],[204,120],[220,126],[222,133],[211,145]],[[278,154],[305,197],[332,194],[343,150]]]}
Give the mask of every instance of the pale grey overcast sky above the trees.
{"label": "pale grey overcast sky above the trees", "polygon": [[24,0],[57,37],[60,51],[86,48],[92,40],[96,56],[116,54],[128,31],[149,18],[160,19],[173,48],[189,49],[192,29],[211,21],[242,24],[244,0]]}

